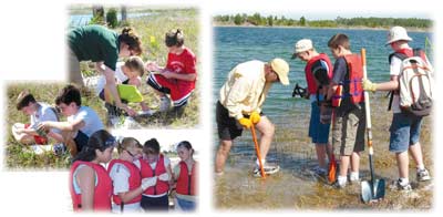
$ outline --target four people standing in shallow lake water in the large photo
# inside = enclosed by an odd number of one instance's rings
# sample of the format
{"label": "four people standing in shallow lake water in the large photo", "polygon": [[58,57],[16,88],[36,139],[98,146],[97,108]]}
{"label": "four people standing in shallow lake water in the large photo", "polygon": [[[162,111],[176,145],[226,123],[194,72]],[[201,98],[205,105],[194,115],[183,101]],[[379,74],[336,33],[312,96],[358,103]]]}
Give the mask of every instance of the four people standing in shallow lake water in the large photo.
{"label": "four people standing in shallow lake water in the large photo", "polygon": [[[393,118],[390,127],[389,151],[394,153],[399,169],[399,179],[393,187],[410,190],[409,155],[416,166],[418,182],[431,179],[423,163],[420,144],[422,116],[405,113],[400,106],[400,78],[402,61],[419,56],[427,69],[432,69],[423,51],[412,49],[408,42],[412,39],[402,27],[393,27],[388,33],[387,45],[393,53],[389,55],[390,81],[372,83],[363,79],[362,59],[352,53],[348,35],[338,33],[330,38],[328,46],[336,59],[332,65],[326,53],[318,53],[310,39],[301,39],[295,44],[292,59],[306,62],[305,75],[307,90],[303,95],[311,102],[309,137],[316,146],[318,166],[316,172],[324,176],[328,173],[327,157],[331,159],[333,148],[340,152],[340,169],[334,186],[343,188],[348,182],[360,182],[360,154],[364,151],[365,108],[364,91],[393,91]],[[260,156],[257,157],[254,175],[260,175],[260,165],[266,174],[278,172],[278,165],[266,163],[266,155],[274,137],[275,126],[261,111],[266,94],[275,82],[289,84],[289,65],[285,60],[274,59],[268,63],[248,61],[236,65],[222,86],[216,105],[216,121],[220,140],[215,159],[215,172],[224,173],[234,138],[241,135],[244,128],[256,125],[261,134]],[[332,144],[328,142],[332,124]],[[260,162],[261,161],[261,164]],[[350,173],[348,173],[350,172]]]}

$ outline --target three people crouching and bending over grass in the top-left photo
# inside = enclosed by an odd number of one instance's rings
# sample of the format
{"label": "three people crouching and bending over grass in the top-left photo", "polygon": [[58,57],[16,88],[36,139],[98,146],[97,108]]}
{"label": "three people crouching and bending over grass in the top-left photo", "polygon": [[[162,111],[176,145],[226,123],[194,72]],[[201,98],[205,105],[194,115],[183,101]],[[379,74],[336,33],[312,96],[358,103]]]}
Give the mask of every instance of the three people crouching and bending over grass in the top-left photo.
{"label": "three people crouching and bending over grass in the top-left photo", "polygon": [[[184,45],[185,38],[181,29],[168,31],[164,42],[168,49],[168,55],[166,65],[162,68],[155,62],[144,63],[140,58],[144,49],[141,37],[133,28],[124,28],[121,34],[102,25],[75,28],[68,34],[70,82],[80,86],[84,85],[80,62],[95,62],[95,70],[102,75],[96,92],[105,102],[110,114],[130,116],[140,113],[152,114],[150,107],[140,99],[136,102],[141,103],[141,112],[130,107],[127,103],[132,100],[124,95],[131,94],[124,94],[122,93],[124,91],[120,92],[117,89],[119,84],[134,85],[140,89],[143,83],[141,79],[147,71],[146,84],[159,96],[159,111],[168,111],[173,101],[173,111],[182,114],[195,89],[196,56],[189,48]],[[119,59],[126,60],[117,62]]]}

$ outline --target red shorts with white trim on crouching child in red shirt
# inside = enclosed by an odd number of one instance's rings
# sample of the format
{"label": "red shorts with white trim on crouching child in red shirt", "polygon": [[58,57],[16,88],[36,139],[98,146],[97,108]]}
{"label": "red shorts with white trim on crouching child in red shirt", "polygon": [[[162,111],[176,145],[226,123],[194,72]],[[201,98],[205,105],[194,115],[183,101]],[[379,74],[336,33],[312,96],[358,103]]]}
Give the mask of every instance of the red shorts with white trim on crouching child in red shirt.
{"label": "red shorts with white trim on crouching child in red shirt", "polygon": [[166,79],[162,74],[151,73],[146,83],[158,92],[169,94],[175,107],[187,104],[194,91],[194,82]]}

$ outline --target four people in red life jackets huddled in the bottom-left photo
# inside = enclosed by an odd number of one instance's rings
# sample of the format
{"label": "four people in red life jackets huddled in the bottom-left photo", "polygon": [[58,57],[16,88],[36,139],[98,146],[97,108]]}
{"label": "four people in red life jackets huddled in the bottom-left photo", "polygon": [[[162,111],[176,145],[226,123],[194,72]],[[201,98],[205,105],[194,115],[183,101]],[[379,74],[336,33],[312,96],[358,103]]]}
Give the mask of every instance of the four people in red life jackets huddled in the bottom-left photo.
{"label": "four people in red life jackets huddled in the bottom-left photo", "polygon": [[[114,147],[117,158],[112,159]],[[168,210],[175,190],[177,210],[195,210],[197,168],[187,141],[176,146],[181,158],[172,168],[156,138],[141,145],[134,137],[117,141],[105,130],[92,134],[70,169],[70,192],[75,211]],[[107,168],[103,166],[107,164]]]}

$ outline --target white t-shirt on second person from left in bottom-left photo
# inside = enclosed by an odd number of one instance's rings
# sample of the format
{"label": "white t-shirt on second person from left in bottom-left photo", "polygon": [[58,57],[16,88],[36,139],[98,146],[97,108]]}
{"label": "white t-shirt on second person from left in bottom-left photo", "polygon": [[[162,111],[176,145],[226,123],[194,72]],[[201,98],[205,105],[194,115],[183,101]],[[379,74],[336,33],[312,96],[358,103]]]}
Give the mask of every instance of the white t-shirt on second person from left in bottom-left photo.
{"label": "white t-shirt on second person from left in bottom-left photo", "polygon": [[[125,165],[116,163],[112,166],[110,177],[113,182],[114,195],[117,195],[119,193],[126,193],[130,190],[130,183],[128,183],[130,176],[131,176],[130,169]],[[113,213],[120,213],[120,209],[121,209],[120,205],[116,204],[112,205]],[[124,211],[126,210],[138,211],[141,210],[141,205],[140,203],[125,204]]]}

